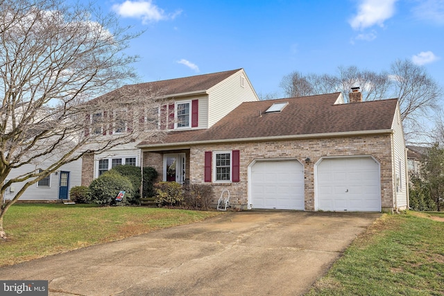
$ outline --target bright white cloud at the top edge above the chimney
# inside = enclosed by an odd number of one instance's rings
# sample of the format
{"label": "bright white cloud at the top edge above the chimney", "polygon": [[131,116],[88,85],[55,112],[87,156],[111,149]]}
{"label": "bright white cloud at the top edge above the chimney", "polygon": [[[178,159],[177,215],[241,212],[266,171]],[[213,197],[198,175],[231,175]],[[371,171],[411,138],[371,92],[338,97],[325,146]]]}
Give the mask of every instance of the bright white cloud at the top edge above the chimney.
{"label": "bright white cloud at the top edge above the chimney", "polygon": [[395,14],[395,2],[398,0],[360,0],[357,15],[349,24],[355,30],[371,26],[384,26],[384,21]]}

